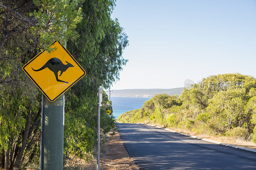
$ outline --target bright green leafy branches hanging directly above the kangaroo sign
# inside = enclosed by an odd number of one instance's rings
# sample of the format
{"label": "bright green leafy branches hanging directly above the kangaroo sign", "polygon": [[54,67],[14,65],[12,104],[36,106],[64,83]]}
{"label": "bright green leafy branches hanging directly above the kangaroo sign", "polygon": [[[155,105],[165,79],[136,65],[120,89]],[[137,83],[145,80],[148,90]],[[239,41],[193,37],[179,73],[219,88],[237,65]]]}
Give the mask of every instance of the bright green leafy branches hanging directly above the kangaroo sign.
{"label": "bright green leafy branches hanging directly above the kangaroo sign", "polygon": [[[34,16],[37,25],[30,27],[32,36],[39,36],[40,46],[38,49],[51,49],[50,44],[58,40],[62,45],[68,39],[79,37],[76,32],[76,25],[82,21],[83,0],[33,0],[38,10],[30,12]],[[80,6],[80,7],[79,7]]]}

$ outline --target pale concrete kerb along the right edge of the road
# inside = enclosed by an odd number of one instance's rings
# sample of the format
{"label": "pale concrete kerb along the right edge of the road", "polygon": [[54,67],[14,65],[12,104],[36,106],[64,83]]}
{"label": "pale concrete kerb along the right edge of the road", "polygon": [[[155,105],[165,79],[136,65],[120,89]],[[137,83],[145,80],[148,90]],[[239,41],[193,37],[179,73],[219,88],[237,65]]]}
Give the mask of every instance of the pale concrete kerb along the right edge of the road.
{"label": "pale concrete kerb along the right edge of the road", "polygon": [[[142,123],[137,123],[137,124],[142,124]],[[255,152],[256,153],[256,149],[247,148],[247,147],[244,147],[244,146],[233,145],[233,144],[228,144],[228,143],[223,143],[223,142],[215,141],[215,140],[212,140],[212,139],[201,138],[201,137],[198,137],[198,136],[189,135],[189,134],[181,133],[181,132],[178,132],[178,131],[173,131],[171,129],[162,128],[160,126],[155,126],[155,125],[152,125],[152,124],[145,124],[145,125],[154,126],[154,127],[160,128],[160,129],[164,129],[166,131],[174,132],[174,133],[179,133],[181,135],[189,136],[191,138],[201,139],[201,140],[205,140],[205,141],[212,142],[212,143],[215,143],[215,144],[225,145],[225,146],[233,147],[233,148],[236,148],[236,149],[242,149],[242,150],[245,150],[245,151],[250,151],[250,152]]]}

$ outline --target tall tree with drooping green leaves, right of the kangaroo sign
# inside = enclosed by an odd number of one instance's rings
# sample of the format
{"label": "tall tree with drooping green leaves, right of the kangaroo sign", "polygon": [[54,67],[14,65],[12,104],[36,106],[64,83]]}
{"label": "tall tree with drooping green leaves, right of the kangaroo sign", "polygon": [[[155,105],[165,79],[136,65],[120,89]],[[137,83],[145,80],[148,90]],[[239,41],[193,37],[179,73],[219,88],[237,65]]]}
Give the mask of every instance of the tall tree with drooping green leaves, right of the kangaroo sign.
{"label": "tall tree with drooping green leaves, right of the kangaroo sign", "polygon": [[[83,20],[76,28],[79,39],[67,42],[68,51],[86,71],[86,77],[66,93],[64,148],[67,153],[73,152],[70,148],[78,146],[75,154],[82,156],[89,148],[86,145],[95,142],[97,87],[102,85],[109,89],[113,82],[119,80],[119,71],[128,61],[122,57],[124,48],[128,46],[128,37],[118,20],[110,17],[114,6],[114,0],[85,1],[82,6]],[[101,133],[105,134],[114,124],[105,121],[108,117],[103,112],[101,115]],[[90,140],[82,143],[85,138],[80,138],[79,134],[84,131],[88,131],[90,138],[87,139]]]}

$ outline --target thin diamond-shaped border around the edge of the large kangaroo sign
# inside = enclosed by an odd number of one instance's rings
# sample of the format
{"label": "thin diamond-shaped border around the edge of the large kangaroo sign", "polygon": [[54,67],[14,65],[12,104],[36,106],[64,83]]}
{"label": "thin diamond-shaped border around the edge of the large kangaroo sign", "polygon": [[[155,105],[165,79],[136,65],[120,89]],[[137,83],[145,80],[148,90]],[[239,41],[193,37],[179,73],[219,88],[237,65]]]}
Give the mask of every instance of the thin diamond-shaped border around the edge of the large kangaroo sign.
{"label": "thin diamond-shaped border around the edge of the large kangaroo sign", "polygon": [[[59,41],[54,41],[51,45],[54,45],[55,43],[59,43]],[[60,46],[62,46],[60,44]],[[81,65],[76,61],[76,59],[68,52],[68,50],[62,46],[62,48],[68,53],[68,55],[76,62],[76,64],[81,68],[81,70],[84,72],[84,74],[79,77],[76,81],[74,81],[70,86],[68,86],[67,89],[63,90],[57,97],[55,97],[53,100],[51,100],[45,93],[44,93],[44,90],[41,89],[39,87],[39,85],[36,83],[36,81],[28,74],[28,72],[25,70],[25,67],[30,64],[33,60],[35,60],[39,55],[41,55],[44,51],[41,51],[39,54],[37,54],[33,59],[31,59],[30,61],[28,61],[28,63],[26,63],[23,67],[22,67],[22,70],[28,75],[28,77],[36,84],[36,86],[38,87],[38,89],[44,94],[44,96],[50,101],[50,102],[54,102],[58,97],[60,97],[60,95],[62,95],[63,93],[65,93],[65,91],[67,91],[69,88],[71,88],[74,84],[76,84],[77,81],[79,81],[82,77],[84,77],[84,75],[86,74],[85,70],[83,67],[81,67]]]}

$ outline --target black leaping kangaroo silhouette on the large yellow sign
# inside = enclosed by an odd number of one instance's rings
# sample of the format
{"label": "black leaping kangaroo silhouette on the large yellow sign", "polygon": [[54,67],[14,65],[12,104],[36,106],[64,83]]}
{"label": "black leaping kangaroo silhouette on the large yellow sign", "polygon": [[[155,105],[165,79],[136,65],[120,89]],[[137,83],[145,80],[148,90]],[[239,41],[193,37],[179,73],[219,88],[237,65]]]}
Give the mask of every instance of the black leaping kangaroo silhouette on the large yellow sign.
{"label": "black leaping kangaroo silhouette on the large yellow sign", "polygon": [[68,61],[66,61],[66,63],[68,64],[63,64],[61,62],[60,59],[58,58],[51,58],[50,60],[48,60],[43,67],[39,68],[38,70],[34,70],[32,67],[32,69],[34,71],[41,71],[43,70],[44,68],[49,68],[55,75],[56,77],[56,80],[57,81],[60,81],[60,82],[63,82],[63,83],[68,83],[67,81],[62,81],[62,80],[59,80],[58,79],[58,72],[60,71],[60,76],[63,72],[65,72],[69,67],[74,67],[72,64],[70,64]]}

